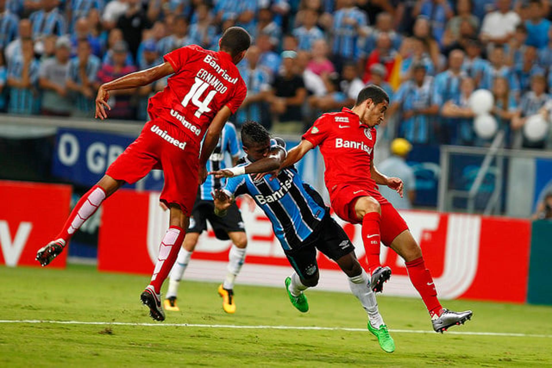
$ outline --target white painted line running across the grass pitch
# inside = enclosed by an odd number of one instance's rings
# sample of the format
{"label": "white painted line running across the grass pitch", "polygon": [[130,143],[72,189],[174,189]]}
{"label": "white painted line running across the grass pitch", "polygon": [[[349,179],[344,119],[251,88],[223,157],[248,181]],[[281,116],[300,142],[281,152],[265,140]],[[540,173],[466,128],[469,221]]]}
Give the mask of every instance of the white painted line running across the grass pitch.
{"label": "white painted line running across the grass pitch", "polygon": [[[133,323],[133,322],[86,322],[86,321],[40,321],[38,319],[23,319],[21,321],[0,320],[2,323],[52,323],[52,324],[86,324],[97,326],[155,326],[155,327],[195,327],[195,328],[237,328],[237,329],[277,329],[277,330],[317,330],[317,331],[353,331],[353,332],[368,332],[365,328],[350,328],[350,327],[317,327],[317,326],[247,326],[235,324],[196,324],[196,323]],[[434,331],[429,330],[402,330],[391,329],[393,333],[422,333],[431,334]],[[552,338],[552,335],[540,334],[525,334],[525,333],[508,333],[508,332],[470,332],[470,331],[447,331],[447,334],[453,335],[476,335],[476,336],[505,336],[505,337],[539,337]]]}

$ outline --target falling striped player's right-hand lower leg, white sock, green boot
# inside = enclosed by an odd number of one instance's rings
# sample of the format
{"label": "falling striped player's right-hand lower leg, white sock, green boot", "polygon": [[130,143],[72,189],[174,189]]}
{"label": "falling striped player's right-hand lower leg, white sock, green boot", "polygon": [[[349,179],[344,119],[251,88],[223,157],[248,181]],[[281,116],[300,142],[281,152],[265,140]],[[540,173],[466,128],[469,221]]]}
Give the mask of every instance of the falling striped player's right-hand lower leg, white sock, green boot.
{"label": "falling striped player's right-hand lower leg, white sock, green boot", "polygon": [[348,276],[351,292],[358,298],[368,314],[368,330],[378,338],[381,349],[387,353],[392,353],[395,351],[395,342],[379,313],[376,296],[370,289],[370,279],[358,263],[354,252],[344,255],[336,262],[339,268]]}

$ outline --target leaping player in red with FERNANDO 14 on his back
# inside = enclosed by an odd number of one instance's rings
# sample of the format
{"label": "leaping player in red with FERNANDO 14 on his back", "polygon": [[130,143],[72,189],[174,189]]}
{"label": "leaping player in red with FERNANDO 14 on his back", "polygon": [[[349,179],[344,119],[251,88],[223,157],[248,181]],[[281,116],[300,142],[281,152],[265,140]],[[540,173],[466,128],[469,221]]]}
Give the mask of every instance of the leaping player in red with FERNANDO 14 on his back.
{"label": "leaping player in red with FERNANDO 14 on his back", "polygon": [[250,44],[246,30],[231,27],[220,38],[218,52],[197,45],[181,47],[165,55],[161,65],[100,86],[95,117],[103,120],[108,116],[106,108],[110,109],[109,91],[146,86],[172,74],[167,87],[150,98],[151,120],[140,136],[82,196],[55,240],[39,249],[36,260],[41,265],[49,264],[60,254],[75,231],[121,185],[135,183],[151,169],[162,169],[165,181],[160,201],[171,211],[169,228],[161,242],[151,282],[140,298],[150,308],[153,319],[165,319],[161,285],[184,239],[198,184],[204,182],[207,174],[205,164],[219,140],[222,127],[246,97],[247,88],[236,64],[245,56]]}

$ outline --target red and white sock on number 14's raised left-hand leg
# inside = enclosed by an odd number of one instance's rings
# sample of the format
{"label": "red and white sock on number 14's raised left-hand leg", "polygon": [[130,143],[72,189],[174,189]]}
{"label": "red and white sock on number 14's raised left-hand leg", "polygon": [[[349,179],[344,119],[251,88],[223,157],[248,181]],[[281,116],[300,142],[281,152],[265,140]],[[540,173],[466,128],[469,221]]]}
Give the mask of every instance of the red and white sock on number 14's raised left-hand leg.
{"label": "red and white sock on number 14's raised left-hand leg", "polygon": [[88,190],[81,199],[79,199],[73,211],[71,211],[71,215],[69,215],[65,225],[63,225],[63,230],[61,230],[56,239],[62,238],[65,240],[65,243],[68,243],[84,221],[88,220],[88,218],[94,214],[105,197],[105,190],[98,185],[94,185]]}

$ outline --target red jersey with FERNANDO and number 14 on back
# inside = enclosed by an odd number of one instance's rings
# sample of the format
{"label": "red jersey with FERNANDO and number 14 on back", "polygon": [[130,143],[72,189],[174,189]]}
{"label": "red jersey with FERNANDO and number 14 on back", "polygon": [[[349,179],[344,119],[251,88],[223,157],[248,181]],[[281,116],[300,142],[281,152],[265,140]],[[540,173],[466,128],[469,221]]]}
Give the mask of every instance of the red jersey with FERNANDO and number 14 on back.
{"label": "red jersey with FERNANDO and number 14 on back", "polygon": [[246,85],[226,52],[190,45],[163,59],[171,63],[174,74],[167,87],[150,98],[148,114],[179,126],[199,147],[219,110],[226,105],[235,113],[240,107]]}

